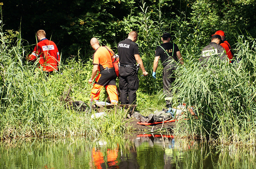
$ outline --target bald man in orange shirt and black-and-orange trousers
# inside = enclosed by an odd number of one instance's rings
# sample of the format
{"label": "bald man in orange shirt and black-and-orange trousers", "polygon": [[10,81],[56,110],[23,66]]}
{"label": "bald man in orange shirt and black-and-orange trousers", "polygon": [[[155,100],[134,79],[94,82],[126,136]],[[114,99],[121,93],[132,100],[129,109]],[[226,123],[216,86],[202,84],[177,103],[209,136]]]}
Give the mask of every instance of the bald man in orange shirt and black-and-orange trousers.
{"label": "bald man in orange shirt and black-and-orange trousers", "polygon": [[91,46],[95,50],[93,54],[93,68],[92,76],[88,83],[92,83],[98,70],[99,75],[95,79],[90,98],[96,102],[99,101],[100,90],[105,87],[111,103],[118,103],[118,96],[116,90],[116,73],[112,63],[113,51],[108,46],[100,46],[98,39],[92,38]]}

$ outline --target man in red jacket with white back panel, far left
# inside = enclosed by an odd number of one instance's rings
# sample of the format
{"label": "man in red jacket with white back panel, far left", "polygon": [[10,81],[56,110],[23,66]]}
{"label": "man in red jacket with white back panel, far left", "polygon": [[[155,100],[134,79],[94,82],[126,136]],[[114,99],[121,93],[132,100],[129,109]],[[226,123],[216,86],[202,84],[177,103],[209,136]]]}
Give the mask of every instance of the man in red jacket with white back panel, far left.
{"label": "man in red jacket with white back panel, far left", "polygon": [[60,64],[60,53],[54,42],[45,38],[44,30],[36,32],[38,43],[36,44],[34,51],[28,55],[27,60],[35,61],[38,59],[39,64],[42,66],[48,75],[53,71],[58,70]]}

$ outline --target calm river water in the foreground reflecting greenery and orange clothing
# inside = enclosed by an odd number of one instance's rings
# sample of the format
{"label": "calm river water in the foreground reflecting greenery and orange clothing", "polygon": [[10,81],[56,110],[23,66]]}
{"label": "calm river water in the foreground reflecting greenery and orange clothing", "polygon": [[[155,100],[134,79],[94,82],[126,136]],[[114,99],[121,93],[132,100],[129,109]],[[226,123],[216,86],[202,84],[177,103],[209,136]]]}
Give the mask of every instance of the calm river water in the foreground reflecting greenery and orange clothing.
{"label": "calm river water in the foreground reflecting greenery and orange clothing", "polygon": [[255,148],[167,135],[0,143],[0,168],[256,168]]}

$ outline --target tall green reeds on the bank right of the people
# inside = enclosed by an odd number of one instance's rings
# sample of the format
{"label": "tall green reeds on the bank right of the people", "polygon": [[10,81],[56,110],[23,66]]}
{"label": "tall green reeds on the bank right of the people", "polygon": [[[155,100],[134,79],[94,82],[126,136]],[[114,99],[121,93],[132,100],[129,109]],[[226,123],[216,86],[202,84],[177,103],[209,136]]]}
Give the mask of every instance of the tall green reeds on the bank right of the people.
{"label": "tall green reeds on the bank right of the people", "polygon": [[[238,36],[236,58],[239,63],[212,57],[201,67],[199,56],[190,55],[186,69],[177,70],[173,88],[183,102],[196,109],[188,114],[176,135],[217,139],[220,143],[255,144],[255,40]],[[174,91],[174,92],[175,92]],[[180,123],[181,124],[181,123]],[[182,131],[182,132],[181,132]]]}

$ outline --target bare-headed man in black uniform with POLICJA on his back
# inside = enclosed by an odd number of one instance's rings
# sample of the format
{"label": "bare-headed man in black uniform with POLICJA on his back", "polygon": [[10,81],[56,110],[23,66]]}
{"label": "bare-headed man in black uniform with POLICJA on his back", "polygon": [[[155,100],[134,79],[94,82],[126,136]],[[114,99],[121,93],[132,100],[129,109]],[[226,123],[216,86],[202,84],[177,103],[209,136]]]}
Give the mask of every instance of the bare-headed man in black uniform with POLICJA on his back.
{"label": "bare-headed man in black uniform with POLICJA on his back", "polygon": [[[139,87],[138,70],[142,70],[143,76],[147,76],[143,62],[140,58],[138,45],[135,43],[138,39],[138,33],[132,31],[128,38],[117,44],[119,55],[119,90],[121,104],[135,104],[136,91]],[[136,62],[139,64],[137,67]],[[128,99],[127,99],[128,95]]]}

